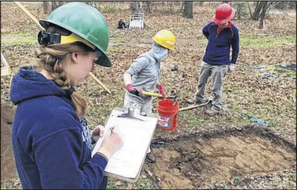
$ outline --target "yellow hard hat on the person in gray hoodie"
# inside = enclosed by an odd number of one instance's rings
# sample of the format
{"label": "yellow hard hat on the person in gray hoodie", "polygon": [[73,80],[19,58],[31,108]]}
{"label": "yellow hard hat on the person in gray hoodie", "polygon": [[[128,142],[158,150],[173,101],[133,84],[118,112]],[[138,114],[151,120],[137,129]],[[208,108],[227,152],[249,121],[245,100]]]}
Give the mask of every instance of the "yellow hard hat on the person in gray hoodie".
{"label": "yellow hard hat on the person in gray hoodie", "polygon": [[153,36],[153,41],[164,48],[175,50],[175,34],[170,32],[168,29],[162,29],[157,32],[157,34]]}

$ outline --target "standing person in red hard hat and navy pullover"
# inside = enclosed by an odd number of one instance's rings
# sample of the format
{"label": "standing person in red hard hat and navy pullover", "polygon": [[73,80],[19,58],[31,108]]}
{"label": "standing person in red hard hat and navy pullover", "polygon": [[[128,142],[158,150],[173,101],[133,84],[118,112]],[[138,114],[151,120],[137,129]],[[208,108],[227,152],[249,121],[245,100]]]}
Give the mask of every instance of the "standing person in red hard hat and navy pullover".
{"label": "standing person in red hard hat and navy pullover", "polygon": [[[215,10],[213,22],[203,27],[203,34],[208,39],[206,53],[201,62],[198,90],[189,104],[201,104],[204,99],[206,83],[213,79],[213,101],[211,109],[206,114],[215,116],[222,114],[222,86],[227,72],[233,72],[239,55],[239,30],[230,20],[234,18],[235,10],[229,4],[221,4]],[[230,47],[232,59],[230,60]]]}

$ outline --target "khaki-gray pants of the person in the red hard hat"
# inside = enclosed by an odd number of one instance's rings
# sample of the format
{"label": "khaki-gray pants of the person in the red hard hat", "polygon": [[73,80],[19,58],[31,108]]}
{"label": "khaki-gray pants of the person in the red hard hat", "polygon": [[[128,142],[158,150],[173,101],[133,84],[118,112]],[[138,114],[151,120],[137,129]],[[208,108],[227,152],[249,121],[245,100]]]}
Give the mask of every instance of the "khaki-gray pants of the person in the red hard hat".
{"label": "khaki-gray pants of the person in the red hard hat", "polygon": [[194,96],[195,100],[202,101],[204,98],[204,92],[206,90],[206,83],[211,76],[213,79],[213,111],[222,111],[222,86],[223,78],[227,73],[229,65],[210,65],[207,62],[201,62],[201,71],[199,76],[198,90]]}

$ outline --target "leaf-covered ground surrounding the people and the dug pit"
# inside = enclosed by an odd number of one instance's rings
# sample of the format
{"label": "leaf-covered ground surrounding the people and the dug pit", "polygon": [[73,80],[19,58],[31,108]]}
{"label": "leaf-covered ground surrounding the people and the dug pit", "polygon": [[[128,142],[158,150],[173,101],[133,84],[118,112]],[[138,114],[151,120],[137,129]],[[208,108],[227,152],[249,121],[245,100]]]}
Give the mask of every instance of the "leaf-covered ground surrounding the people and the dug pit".
{"label": "leaf-covered ground surrounding the people and the dug pit", "polygon": [[[41,4],[23,3],[23,5],[37,19],[46,18]],[[182,18],[182,13],[177,13],[177,8],[173,10],[174,15],[164,11],[165,8],[156,8],[153,13],[145,14],[144,19],[148,28],[121,30],[110,38],[108,54],[113,61],[113,67],[95,67],[93,73],[112,93],[108,94],[91,76],[77,88],[77,91],[88,100],[87,116],[90,124],[95,126],[104,123],[112,109],[122,107],[125,93],[122,74],[138,55],[151,48],[153,42],[151,37],[160,29],[170,29],[177,37],[176,51],[170,53],[161,65],[161,83],[168,91],[175,88],[181,107],[186,107],[185,101],[193,97],[196,92],[200,64],[207,44],[201,29],[212,19],[216,5],[217,2],[195,6],[194,19]],[[101,11],[108,21],[110,34],[117,31],[118,20],[129,20],[130,11],[127,4],[104,3]],[[272,74],[263,78],[260,69],[268,68],[269,72],[275,65],[295,65],[296,68],[296,17],[267,15],[265,31],[258,30],[258,24],[258,21],[234,20],[234,25],[239,28],[241,49],[235,72],[225,77],[224,115],[218,118],[209,117],[203,114],[201,109],[181,111],[177,130],[169,134],[156,130],[155,137],[165,135],[170,137],[177,133],[189,133],[203,128],[247,125],[248,119],[253,117],[263,119],[269,124],[269,128],[295,143],[296,70],[292,72],[290,69],[285,69],[285,73],[289,74]],[[35,62],[33,48],[38,46],[37,32],[39,32],[37,25],[15,4],[1,2],[1,51],[11,67],[12,74],[18,72],[18,67],[21,65]],[[171,68],[175,65],[178,65],[179,70],[171,72]],[[273,72],[275,71],[274,69]],[[1,77],[1,105],[11,104],[10,80],[10,76]],[[208,82],[206,96],[212,97],[211,81]],[[155,110],[157,101],[153,101]],[[296,172],[289,176],[291,175],[296,177]],[[289,178],[290,182],[292,178]],[[279,186],[296,188],[295,183],[289,184],[289,187],[282,186],[280,182]],[[273,187],[269,186],[268,181],[267,185],[267,189]],[[153,184],[143,173],[136,184],[111,179],[108,187],[151,189]],[[259,187],[248,186],[248,189],[252,188]],[[266,189],[266,186],[260,188]]]}

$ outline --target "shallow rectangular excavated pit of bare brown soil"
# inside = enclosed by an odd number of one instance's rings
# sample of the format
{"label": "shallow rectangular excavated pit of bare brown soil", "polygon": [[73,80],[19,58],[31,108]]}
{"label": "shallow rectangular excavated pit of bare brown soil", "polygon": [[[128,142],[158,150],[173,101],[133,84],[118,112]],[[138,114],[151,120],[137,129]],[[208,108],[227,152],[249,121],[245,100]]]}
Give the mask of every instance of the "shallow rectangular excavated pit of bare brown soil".
{"label": "shallow rectangular excavated pit of bare brown soil", "polygon": [[[296,147],[269,130],[249,128],[158,140],[155,164],[145,166],[160,189],[197,189],[233,177],[256,176],[296,166]],[[160,143],[161,142],[161,143]]]}

